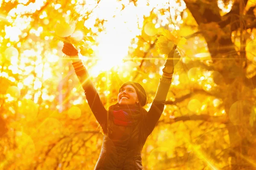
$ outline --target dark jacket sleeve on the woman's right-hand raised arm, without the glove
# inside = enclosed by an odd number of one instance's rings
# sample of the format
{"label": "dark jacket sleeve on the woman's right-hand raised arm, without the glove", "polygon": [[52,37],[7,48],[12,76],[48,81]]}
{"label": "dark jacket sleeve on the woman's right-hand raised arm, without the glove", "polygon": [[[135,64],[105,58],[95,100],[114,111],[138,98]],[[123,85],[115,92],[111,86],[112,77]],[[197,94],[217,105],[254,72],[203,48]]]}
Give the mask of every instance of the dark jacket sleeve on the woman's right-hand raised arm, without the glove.
{"label": "dark jacket sleeve on the woman's right-hand raised arm, without the glove", "polygon": [[[166,75],[167,77],[165,77]],[[159,81],[157,93],[154,97],[151,108],[149,109],[148,114],[144,120],[146,130],[149,134],[154,130],[155,125],[157,124],[163,113],[166,96],[168,94],[171,83],[172,74],[163,74],[162,78]]]}

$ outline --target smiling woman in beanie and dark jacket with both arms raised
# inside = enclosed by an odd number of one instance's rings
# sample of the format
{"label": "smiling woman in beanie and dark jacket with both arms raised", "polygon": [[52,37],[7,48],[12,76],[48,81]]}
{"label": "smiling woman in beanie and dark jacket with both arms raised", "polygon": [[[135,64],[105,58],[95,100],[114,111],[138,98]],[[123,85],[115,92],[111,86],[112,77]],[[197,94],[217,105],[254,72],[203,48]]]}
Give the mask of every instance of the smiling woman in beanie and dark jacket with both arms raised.
{"label": "smiling woman in beanie and dark jacket with both arms raised", "polygon": [[141,151],[163,112],[174,71],[173,57],[180,57],[175,48],[166,60],[163,76],[148,112],[142,108],[147,101],[145,90],[137,82],[123,84],[117,96],[118,102],[107,111],[84,65],[78,59],[78,51],[72,44],[64,42],[62,51],[72,58],[87,102],[104,134],[101,153],[94,170],[143,169]]}

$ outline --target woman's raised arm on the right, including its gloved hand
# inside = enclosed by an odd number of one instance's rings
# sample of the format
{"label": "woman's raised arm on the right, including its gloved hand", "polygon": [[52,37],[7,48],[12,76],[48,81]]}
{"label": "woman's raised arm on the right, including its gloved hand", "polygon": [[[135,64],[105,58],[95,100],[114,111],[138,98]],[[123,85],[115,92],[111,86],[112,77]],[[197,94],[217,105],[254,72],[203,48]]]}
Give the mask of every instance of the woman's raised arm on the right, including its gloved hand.
{"label": "woman's raised arm on the right, including its gloved hand", "polygon": [[155,125],[157,124],[160,116],[163,113],[166,96],[171,86],[172,75],[174,72],[175,65],[173,64],[173,57],[180,57],[179,52],[175,48],[173,48],[168,55],[165,67],[163,68],[163,75],[157,87],[157,93],[154,97],[151,108],[149,109],[148,114],[145,118],[145,127],[148,133],[151,133],[154,130]]}

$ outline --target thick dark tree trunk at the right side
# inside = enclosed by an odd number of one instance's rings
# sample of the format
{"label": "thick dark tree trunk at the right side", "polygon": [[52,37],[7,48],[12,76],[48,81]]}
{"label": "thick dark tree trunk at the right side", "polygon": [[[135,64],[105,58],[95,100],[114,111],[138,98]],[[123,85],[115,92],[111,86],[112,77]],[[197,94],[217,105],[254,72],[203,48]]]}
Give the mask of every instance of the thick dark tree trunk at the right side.
{"label": "thick dark tree trunk at the right side", "polygon": [[[216,11],[219,10],[217,9],[218,6],[216,7],[216,5],[208,8],[207,4],[204,4],[204,2],[197,1],[194,3],[189,0],[184,1],[187,8],[192,13],[192,16],[198,23],[199,28],[201,28],[202,30],[202,35],[207,42],[209,52],[212,56],[213,68],[215,68],[216,71],[219,71],[225,78],[225,83],[227,85],[226,94],[224,94],[223,96],[225,111],[227,114],[233,114],[229,112],[230,107],[233,105],[234,102],[245,98],[244,94],[241,93],[242,88],[246,83],[245,71],[241,65],[241,59],[243,62],[246,63],[245,52],[243,50],[238,53],[235,49],[235,45],[231,40],[232,31],[239,29],[239,17],[235,18],[236,20],[230,19],[233,14],[239,15],[239,11],[241,14],[241,11],[243,11],[243,9],[239,10],[241,8],[241,3],[234,4],[232,10],[226,15],[226,17],[229,16],[228,19],[224,20],[223,17],[221,17],[219,14],[216,14]],[[215,4],[214,2],[211,3]],[[246,5],[247,0],[244,0],[244,3]],[[242,7],[244,8],[244,6]],[[201,10],[202,8],[207,9]],[[210,28],[207,28],[207,24],[212,24],[212,22],[215,22],[215,26],[218,25],[219,31],[216,32],[219,32],[221,34],[215,34],[215,36],[209,37],[209,34],[207,33],[212,30],[210,30]],[[244,22],[246,21],[244,20]],[[205,30],[202,29],[204,28],[204,26]],[[243,30],[242,26],[240,27],[240,29]],[[240,36],[240,40],[241,37],[242,36]],[[244,42],[243,39],[241,41]],[[240,50],[241,49],[244,49],[242,45]],[[217,67],[217,65],[219,64],[221,64],[222,67]],[[246,66],[246,64],[244,64],[244,66]],[[248,114],[250,115],[250,113],[239,114],[246,116],[248,116]],[[226,167],[225,169],[236,170],[244,169],[247,167],[256,167],[256,164],[250,161],[250,155],[248,155],[247,152],[247,148],[250,148],[253,144],[248,141],[248,137],[246,136],[246,134],[250,133],[248,132],[250,128],[248,128],[248,126],[244,124],[244,122],[241,122],[241,124],[234,124],[234,122],[232,122],[230,119],[228,120],[228,122],[229,124],[227,125],[227,130],[230,137],[231,165],[229,167]]]}

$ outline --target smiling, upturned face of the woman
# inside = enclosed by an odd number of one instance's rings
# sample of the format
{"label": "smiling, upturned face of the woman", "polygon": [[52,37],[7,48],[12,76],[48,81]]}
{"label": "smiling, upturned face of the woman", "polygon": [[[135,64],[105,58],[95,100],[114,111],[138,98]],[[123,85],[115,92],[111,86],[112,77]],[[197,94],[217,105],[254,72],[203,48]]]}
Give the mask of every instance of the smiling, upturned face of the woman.
{"label": "smiling, upturned face of the woman", "polygon": [[120,89],[117,101],[119,105],[134,105],[138,99],[135,88],[132,85],[125,85]]}

